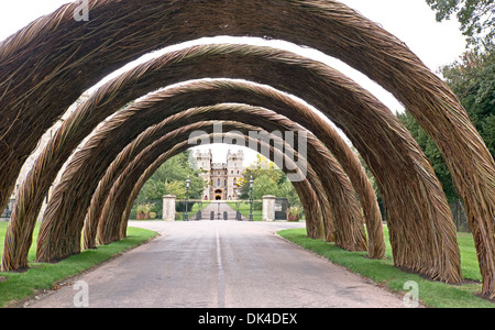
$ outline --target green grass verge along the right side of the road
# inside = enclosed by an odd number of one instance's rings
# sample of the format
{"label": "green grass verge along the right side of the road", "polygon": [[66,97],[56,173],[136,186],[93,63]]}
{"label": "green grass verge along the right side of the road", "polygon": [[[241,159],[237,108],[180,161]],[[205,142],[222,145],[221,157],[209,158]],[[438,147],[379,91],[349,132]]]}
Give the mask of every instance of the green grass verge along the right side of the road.
{"label": "green grass verge along the right side of the road", "polygon": [[[349,252],[322,240],[312,240],[306,235],[306,229],[289,229],[278,234],[302,248],[342,265],[345,268],[371,278],[393,292],[405,293],[404,284],[415,280],[419,288],[419,299],[427,307],[437,308],[494,308],[495,304],[476,296],[481,292],[480,283],[448,285],[422,278],[419,275],[403,272],[393,265],[391,246],[387,243],[386,260],[366,257],[363,252]],[[388,242],[385,227],[386,242]],[[476,251],[471,234],[459,233],[461,265],[466,279],[481,280]]]}

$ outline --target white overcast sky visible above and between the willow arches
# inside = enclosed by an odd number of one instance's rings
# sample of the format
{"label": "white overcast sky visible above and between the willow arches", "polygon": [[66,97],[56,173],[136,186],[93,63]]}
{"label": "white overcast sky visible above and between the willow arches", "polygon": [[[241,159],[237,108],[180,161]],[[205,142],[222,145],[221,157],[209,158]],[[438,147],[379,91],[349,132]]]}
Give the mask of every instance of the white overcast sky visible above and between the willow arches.
{"label": "white overcast sky visible above and between the willow arches", "polygon": [[[0,41],[36,18],[48,14],[62,4],[70,2],[67,0],[0,1]],[[437,72],[442,65],[454,62],[465,50],[465,40],[459,30],[459,23],[455,20],[438,23],[435,20],[435,12],[426,4],[425,0],[342,0],[342,2],[381,24],[385,30],[405,42],[433,72]],[[222,38],[221,41],[223,40],[234,42],[234,38]],[[243,38],[241,42],[245,43],[246,40]],[[256,41],[255,43],[260,42]],[[274,43],[272,41],[268,45],[287,48],[328,63],[373,92],[392,111],[403,110],[402,105],[388,92],[339,61],[322,56],[320,53],[308,48],[294,48],[286,43]],[[218,145],[215,145],[212,148],[215,162],[224,162],[224,154],[229,146],[218,147]],[[248,158],[246,164],[251,163],[255,154],[250,150],[245,150],[244,153]]]}

